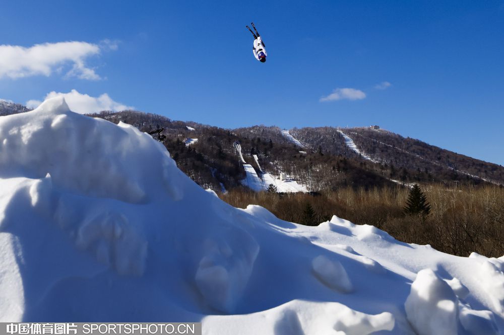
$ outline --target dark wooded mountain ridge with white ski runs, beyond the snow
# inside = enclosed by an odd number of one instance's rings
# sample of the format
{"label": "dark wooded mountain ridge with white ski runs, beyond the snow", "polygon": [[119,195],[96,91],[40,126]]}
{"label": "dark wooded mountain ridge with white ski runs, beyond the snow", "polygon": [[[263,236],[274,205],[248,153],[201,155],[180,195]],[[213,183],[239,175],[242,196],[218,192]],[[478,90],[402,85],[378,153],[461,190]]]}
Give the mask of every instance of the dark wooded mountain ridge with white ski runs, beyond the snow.
{"label": "dark wooded mountain ridge with white ski runs, beyond the snow", "polygon": [[[11,108],[12,114],[28,110],[18,104],[9,106],[16,106]],[[257,173],[261,174],[259,163],[269,173],[275,176],[284,173],[310,191],[414,182],[504,184],[501,165],[385,129],[325,126],[285,131],[264,125],[229,129],[134,110],[102,111],[88,116],[114,123],[121,121],[144,132],[163,129],[156,133],[165,137],[163,144],[180,169],[201,186],[214,190],[240,187],[240,181],[246,178],[232,145],[235,141],[241,143],[247,163]],[[199,140],[186,144],[187,138]],[[350,144],[353,146],[349,147]],[[257,163],[253,155],[258,156]]]}

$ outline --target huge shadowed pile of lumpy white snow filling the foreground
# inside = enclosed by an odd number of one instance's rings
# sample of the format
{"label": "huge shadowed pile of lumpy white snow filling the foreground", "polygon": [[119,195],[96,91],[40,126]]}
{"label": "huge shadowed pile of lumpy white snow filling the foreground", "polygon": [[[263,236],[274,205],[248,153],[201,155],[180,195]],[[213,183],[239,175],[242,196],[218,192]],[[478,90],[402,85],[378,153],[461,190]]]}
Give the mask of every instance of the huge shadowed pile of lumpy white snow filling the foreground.
{"label": "huge shadowed pile of lumpy white snow filling the foreground", "polygon": [[503,272],[504,258],[450,256],[336,216],[308,227],[233,208],[148,134],[62,98],[0,119],[0,321],[497,334]]}

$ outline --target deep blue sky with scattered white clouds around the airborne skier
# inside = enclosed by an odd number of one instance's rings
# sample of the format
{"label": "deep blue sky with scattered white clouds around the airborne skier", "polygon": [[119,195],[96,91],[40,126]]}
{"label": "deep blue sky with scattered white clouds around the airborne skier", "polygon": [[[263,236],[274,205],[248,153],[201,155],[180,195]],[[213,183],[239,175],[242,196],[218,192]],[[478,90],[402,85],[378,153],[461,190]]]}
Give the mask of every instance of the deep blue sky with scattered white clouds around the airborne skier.
{"label": "deep blue sky with scattered white clouds around the airborne skier", "polygon": [[504,1],[1,2],[0,36],[2,99],[76,90],[86,108],[221,127],[378,124],[504,164]]}

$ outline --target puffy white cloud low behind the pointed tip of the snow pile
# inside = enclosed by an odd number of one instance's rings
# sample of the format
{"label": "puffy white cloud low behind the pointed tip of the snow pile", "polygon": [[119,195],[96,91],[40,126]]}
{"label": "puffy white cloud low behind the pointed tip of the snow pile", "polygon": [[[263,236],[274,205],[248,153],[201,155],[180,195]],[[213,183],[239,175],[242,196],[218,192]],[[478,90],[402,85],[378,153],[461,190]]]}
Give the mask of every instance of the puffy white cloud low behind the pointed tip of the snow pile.
{"label": "puffy white cloud low behind the pointed tip of the snow pile", "polygon": [[[132,106],[126,106],[116,101],[113,101],[108,94],[104,93],[99,97],[91,97],[87,94],[80,94],[77,90],[72,90],[69,93],[50,92],[45,99],[54,97],[64,97],[68,107],[76,113],[89,114],[98,113],[101,111],[123,111],[125,109],[134,109]],[[45,100],[44,99],[44,100]],[[26,102],[26,107],[37,108],[42,101],[29,100]]]}

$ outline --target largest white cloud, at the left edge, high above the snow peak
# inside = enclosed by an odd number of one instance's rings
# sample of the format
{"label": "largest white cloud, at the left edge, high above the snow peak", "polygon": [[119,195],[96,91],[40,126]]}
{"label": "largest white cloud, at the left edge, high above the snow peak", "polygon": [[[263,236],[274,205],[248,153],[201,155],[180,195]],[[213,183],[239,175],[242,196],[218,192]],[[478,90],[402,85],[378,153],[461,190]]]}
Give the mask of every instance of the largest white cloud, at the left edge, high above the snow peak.
{"label": "largest white cloud, at the left edge, high above the snow peak", "polygon": [[100,54],[101,50],[115,50],[117,42],[104,40],[100,45],[87,42],[57,42],[35,44],[26,48],[18,45],[0,45],[0,79],[22,78],[34,75],[49,76],[60,73],[64,65],[72,67],[66,76],[98,80],[100,76],[87,67],[85,60]]}

